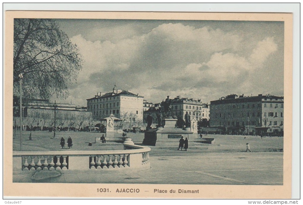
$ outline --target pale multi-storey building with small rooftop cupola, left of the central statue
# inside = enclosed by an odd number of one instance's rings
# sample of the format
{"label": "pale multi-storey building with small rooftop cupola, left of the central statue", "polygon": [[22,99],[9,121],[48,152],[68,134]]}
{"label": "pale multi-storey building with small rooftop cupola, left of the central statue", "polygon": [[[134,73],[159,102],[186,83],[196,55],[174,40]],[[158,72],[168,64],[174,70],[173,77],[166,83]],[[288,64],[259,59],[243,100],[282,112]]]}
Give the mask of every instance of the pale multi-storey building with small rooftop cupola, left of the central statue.
{"label": "pale multi-storey building with small rooftop cupola, left of the central statue", "polygon": [[[116,86],[112,92],[98,93],[87,100],[87,110],[92,112],[95,120],[100,120],[114,114],[117,118],[127,114],[132,120],[143,120],[143,96],[133,94],[131,91],[117,90]],[[135,121],[134,120],[134,121]]]}

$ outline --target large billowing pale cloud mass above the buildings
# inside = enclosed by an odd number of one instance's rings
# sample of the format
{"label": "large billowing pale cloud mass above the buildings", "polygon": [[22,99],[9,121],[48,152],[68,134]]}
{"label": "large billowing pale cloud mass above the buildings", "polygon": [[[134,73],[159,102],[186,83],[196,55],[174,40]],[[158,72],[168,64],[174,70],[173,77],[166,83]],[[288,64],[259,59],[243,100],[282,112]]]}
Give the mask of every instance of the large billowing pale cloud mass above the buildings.
{"label": "large billowing pale cloud mass above the buildings", "polygon": [[105,37],[96,41],[82,35],[71,38],[85,60],[78,84],[70,89],[79,104],[85,105],[85,99],[97,92],[111,91],[114,84],[154,103],[167,95],[209,102],[213,93],[225,96],[223,92],[235,93],[247,85],[248,76],[278,49],[274,37],[249,39],[245,47],[248,36],[208,26],[165,23],[144,34],[128,26],[99,29],[97,36]]}

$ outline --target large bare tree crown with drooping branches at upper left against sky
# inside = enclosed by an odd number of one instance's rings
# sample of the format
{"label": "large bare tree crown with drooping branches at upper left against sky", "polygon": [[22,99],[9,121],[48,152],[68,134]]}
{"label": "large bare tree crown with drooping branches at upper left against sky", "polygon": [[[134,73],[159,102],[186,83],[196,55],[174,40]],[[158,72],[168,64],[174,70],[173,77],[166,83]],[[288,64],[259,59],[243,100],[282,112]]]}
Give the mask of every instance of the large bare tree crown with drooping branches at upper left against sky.
{"label": "large bare tree crown with drooping branches at upper left against sky", "polygon": [[77,46],[54,19],[14,19],[14,93],[23,74],[23,97],[65,97],[82,69]]}

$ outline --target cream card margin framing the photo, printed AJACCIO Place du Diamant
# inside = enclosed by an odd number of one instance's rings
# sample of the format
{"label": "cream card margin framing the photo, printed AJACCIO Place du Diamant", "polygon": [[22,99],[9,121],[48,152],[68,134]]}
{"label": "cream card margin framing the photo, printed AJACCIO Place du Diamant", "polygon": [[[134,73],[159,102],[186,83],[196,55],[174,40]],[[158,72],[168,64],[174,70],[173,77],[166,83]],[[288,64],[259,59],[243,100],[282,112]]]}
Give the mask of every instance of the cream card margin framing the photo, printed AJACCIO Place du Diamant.
{"label": "cream card margin framing the photo, printed AJACCIO Place du Diamant", "polygon": [[[174,19],[174,20],[235,20],[235,21],[284,21],[284,153],[283,185],[173,185],[173,184],[75,184],[75,183],[12,183],[12,76],[13,76],[13,19]],[[6,11],[5,12],[5,97],[4,97],[4,196],[46,197],[115,197],[115,198],[291,198],[292,154],[292,32],[291,13],[199,13],[199,12],[52,12]],[[197,194],[97,193],[97,188],[143,188],[203,190]]]}

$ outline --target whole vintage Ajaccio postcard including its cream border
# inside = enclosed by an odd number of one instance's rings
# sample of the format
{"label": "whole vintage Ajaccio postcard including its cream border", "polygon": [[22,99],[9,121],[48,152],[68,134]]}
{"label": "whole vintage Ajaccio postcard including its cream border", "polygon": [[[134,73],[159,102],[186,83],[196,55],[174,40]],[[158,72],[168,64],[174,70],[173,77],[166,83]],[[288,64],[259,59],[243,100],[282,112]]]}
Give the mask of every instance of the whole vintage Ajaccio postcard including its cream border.
{"label": "whole vintage Ajaccio postcard including its cream border", "polygon": [[5,13],[4,196],[290,198],[292,14]]}

